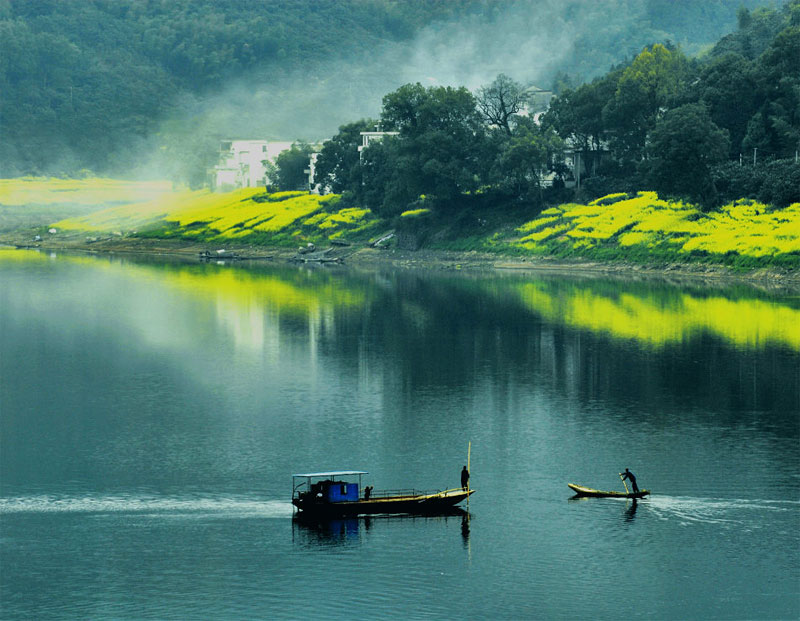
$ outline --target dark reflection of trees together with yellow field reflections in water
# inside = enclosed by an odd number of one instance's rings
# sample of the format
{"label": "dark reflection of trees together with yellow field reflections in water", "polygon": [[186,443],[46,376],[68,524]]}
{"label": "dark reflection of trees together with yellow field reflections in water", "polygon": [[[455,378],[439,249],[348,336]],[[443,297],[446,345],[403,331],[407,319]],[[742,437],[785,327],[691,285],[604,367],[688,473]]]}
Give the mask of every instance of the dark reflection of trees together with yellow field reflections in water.
{"label": "dark reflection of trees together with yellow field reflections in water", "polygon": [[277,266],[170,272],[226,312],[260,309],[265,333],[308,342],[389,399],[483,383],[500,396],[535,387],[653,411],[800,409],[800,310],[751,289]]}

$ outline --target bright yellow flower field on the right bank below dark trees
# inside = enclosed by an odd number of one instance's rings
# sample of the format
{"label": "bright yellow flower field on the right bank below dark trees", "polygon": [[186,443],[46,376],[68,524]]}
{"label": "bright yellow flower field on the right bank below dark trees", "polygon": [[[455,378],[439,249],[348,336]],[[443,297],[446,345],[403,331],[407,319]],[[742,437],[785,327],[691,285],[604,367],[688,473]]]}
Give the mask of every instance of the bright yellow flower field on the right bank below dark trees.
{"label": "bright yellow flower field on the right bank below dark trees", "polygon": [[547,209],[518,229],[515,242],[532,252],[605,249],[617,258],[626,252],[674,255],[735,254],[782,257],[800,263],[800,204],[773,210],[753,201],[737,201],[717,211],[664,201],[654,192],[603,197],[588,205]]}

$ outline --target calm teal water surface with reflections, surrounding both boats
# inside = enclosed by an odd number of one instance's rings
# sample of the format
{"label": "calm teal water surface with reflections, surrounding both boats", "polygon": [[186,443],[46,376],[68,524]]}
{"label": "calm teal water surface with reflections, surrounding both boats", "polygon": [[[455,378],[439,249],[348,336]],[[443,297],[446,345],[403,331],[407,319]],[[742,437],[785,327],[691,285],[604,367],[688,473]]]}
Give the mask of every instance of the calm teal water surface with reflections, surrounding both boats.
{"label": "calm teal water surface with reflections, surrounding both boats", "polygon": [[796,619],[800,299],[0,252],[0,617]]}

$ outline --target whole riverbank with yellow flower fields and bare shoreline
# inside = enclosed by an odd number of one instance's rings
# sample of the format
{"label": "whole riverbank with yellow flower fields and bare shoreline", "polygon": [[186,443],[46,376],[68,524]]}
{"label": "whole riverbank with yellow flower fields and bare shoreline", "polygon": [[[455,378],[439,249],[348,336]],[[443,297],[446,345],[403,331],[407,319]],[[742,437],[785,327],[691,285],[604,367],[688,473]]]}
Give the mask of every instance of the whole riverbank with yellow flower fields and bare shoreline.
{"label": "whole riverbank with yellow flower fields and bare shoreline", "polygon": [[[307,192],[173,192],[158,186],[154,195],[147,186],[141,201],[124,202],[130,194],[121,191],[122,204],[111,205],[108,187],[116,186],[102,180],[64,188],[23,179],[6,186],[0,188],[0,243],[12,246],[206,261],[726,279],[795,288],[800,282],[800,204],[774,209],[743,199],[703,212],[638,192],[543,211],[419,209],[386,220],[369,209],[341,206],[338,195]],[[66,195],[74,203],[64,202]],[[66,217],[55,217],[59,210]],[[70,210],[87,211],[70,217]],[[316,251],[300,255],[299,247]]]}

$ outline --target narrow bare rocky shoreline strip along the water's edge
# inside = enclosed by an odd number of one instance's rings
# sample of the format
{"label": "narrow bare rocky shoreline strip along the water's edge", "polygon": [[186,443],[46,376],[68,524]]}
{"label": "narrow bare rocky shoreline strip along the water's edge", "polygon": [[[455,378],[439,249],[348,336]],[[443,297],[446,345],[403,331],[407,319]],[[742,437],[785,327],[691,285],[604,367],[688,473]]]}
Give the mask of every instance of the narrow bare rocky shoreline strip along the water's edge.
{"label": "narrow bare rocky shoreline strip along the water's edge", "polygon": [[[170,256],[185,260],[220,260],[253,262],[317,262],[313,257],[298,254],[290,248],[260,246],[220,246],[185,240],[142,239],[136,237],[102,238],[86,240],[54,236],[37,241],[22,240],[17,236],[0,238],[0,246],[42,250],[62,250],[93,254],[143,254]],[[205,255],[205,257],[203,257]],[[351,267],[375,268],[380,266],[420,270],[515,270],[569,273],[581,276],[618,276],[667,278],[669,280],[742,282],[762,288],[800,291],[800,270],[761,268],[736,271],[724,265],[706,263],[671,263],[645,265],[628,262],[599,262],[590,260],[564,260],[554,257],[519,257],[476,251],[454,252],[445,250],[402,250],[343,246],[326,249],[328,259]],[[333,262],[333,261],[326,261]]]}

